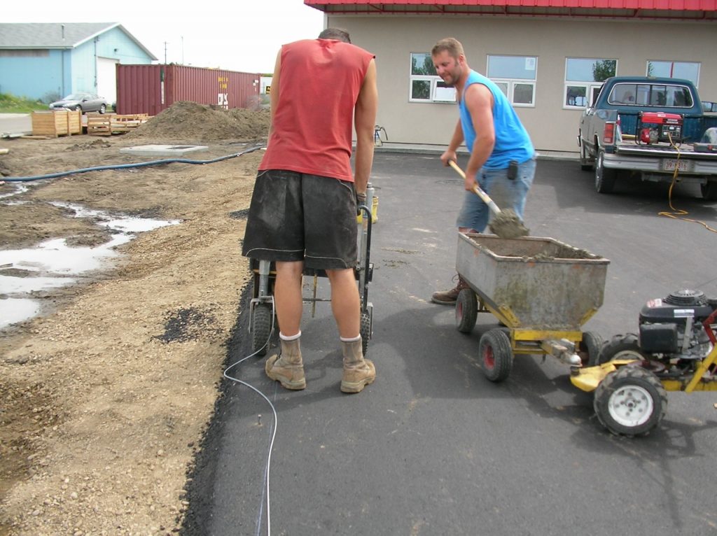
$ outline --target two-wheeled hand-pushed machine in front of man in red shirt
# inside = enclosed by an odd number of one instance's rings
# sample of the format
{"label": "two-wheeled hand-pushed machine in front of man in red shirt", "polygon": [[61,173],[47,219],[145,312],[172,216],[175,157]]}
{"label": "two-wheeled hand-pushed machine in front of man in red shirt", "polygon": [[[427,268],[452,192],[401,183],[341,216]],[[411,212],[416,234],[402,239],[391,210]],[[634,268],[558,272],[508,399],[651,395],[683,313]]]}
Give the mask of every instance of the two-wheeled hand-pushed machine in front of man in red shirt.
{"label": "two-wheeled hand-pushed machine in front of man in red shirt", "polygon": [[[374,305],[369,302],[369,283],[373,278],[374,265],[370,262],[371,253],[371,226],[374,214],[369,207],[374,206],[374,188],[369,183],[366,188],[366,205],[360,205],[359,218],[359,259],[354,268],[356,281],[359,284],[361,296],[361,340],[364,355],[369,349],[369,340],[373,335]],[[275,326],[274,284],[276,272],[273,262],[250,259],[250,269],[253,272],[253,294],[250,302],[249,332],[252,336],[252,352],[261,357],[266,355],[270,345],[270,338]],[[311,317],[316,310],[316,302],[330,302],[328,298],[318,298],[318,278],[326,277],[324,270],[305,269],[304,277],[313,278],[313,288],[310,296],[304,296],[304,302],[311,303]]]}

